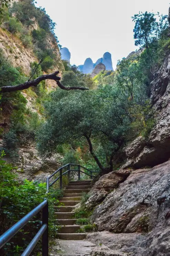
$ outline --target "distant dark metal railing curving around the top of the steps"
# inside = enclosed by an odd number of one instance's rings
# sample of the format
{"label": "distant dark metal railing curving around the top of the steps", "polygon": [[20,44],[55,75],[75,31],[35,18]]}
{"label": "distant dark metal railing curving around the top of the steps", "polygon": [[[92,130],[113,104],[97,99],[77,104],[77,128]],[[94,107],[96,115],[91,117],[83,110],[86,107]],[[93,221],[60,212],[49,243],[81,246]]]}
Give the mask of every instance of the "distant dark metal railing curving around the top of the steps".
{"label": "distant dark metal railing curving around the top of the steps", "polygon": [[[70,169],[70,166],[77,166],[78,169],[76,170],[71,170]],[[62,173],[62,170],[67,167],[68,170],[65,171],[64,173]],[[88,172],[90,172],[90,174],[88,173],[85,173],[83,171],[80,170],[80,167],[82,167],[83,169],[87,170]],[[57,177],[51,184],[50,184],[50,178],[52,178],[56,173],[60,172],[60,175],[59,177]],[[53,174],[51,174],[49,177],[47,177],[46,179],[46,188],[47,188],[47,192],[49,191],[49,188],[56,182],[60,179],[60,189],[62,189],[63,185],[62,185],[62,176],[65,175],[65,174],[68,174],[68,178],[70,177],[70,172],[78,172],[78,180],[80,180],[80,173],[84,173],[88,176],[91,177],[91,180],[93,179],[93,177],[95,177],[93,175],[93,173],[98,173],[98,171],[91,171],[89,169],[87,169],[86,167],[80,165],[80,164],[65,164],[64,166],[60,167],[58,170],[56,170]]]}

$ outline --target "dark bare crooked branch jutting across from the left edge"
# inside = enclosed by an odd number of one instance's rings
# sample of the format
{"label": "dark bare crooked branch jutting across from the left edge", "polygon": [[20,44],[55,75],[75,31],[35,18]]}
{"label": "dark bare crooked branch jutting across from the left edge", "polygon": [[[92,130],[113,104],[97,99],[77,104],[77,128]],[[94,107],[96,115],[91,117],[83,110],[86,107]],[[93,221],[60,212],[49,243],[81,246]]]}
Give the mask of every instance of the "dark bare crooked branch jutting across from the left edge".
{"label": "dark bare crooked branch jutting across from the left edge", "polygon": [[43,80],[47,80],[47,79],[51,79],[51,80],[54,80],[56,81],[57,85],[63,89],[63,90],[66,90],[66,91],[70,91],[70,90],[89,90],[88,88],[84,88],[84,87],[76,87],[76,86],[73,86],[73,87],[65,87],[64,85],[62,85],[60,83],[60,76],[57,76],[57,74],[59,74],[59,71],[56,71],[52,74],[49,74],[49,75],[41,75],[39,76],[38,78],[32,80],[32,81],[26,81],[25,83],[23,84],[19,84],[19,85],[16,85],[16,86],[2,86],[0,88],[0,92],[4,93],[4,92],[15,92],[15,91],[21,91],[21,90],[24,90],[24,89],[28,89],[29,87],[31,86],[37,86],[41,81]]}

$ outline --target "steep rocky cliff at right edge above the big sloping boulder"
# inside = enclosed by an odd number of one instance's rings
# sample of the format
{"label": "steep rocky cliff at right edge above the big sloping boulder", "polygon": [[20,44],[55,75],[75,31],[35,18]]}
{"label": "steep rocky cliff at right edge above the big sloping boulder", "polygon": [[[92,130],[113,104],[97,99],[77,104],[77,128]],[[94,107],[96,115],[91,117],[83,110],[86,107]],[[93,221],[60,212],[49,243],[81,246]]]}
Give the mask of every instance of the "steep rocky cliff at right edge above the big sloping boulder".
{"label": "steep rocky cliff at right edge above the big sloping boulder", "polygon": [[122,168],[155,166],[170,157],[170,55],[154,74],[150,99],[156,110],[156,125],[147,141],[139,137],[125,148],[127,160]]}

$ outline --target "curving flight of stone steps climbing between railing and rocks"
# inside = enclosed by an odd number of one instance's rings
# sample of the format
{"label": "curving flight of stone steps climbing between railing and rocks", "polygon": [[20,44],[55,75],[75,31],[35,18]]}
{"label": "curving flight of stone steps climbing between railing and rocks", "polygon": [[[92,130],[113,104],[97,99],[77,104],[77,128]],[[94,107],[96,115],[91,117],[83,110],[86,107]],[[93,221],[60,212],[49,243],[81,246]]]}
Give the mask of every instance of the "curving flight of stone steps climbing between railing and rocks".
{"label": "curving flight of stone steps climbing between railing and rocks", "polygon": [[76,225],[74,209],[81,200],[83,193],[88,193],[91,188],[91,180],[71,181],[64,191],[64,196],[59,198],[59,204],[56,206],[56,221],[60,225],[57,237],[63,240],[83,240],[86,233],[76,233],[80,228]]}

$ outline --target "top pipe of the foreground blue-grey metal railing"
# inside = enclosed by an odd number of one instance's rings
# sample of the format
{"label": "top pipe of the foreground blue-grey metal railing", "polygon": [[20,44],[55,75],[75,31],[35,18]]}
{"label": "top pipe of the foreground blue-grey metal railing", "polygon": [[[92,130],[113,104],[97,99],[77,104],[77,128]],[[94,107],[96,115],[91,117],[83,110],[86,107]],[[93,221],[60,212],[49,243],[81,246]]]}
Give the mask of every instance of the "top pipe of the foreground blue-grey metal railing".
{"label": "top pipe of the foreground blue-grey metal railing", "polygon": [[0,236],[0,248],[2,248],[29,220],[38,214],[43,207],[47,204],[47,200],[44,200],[41,204],[36,206],[31,212],[26,214],[20,221],[9,228],[5,233]]}

